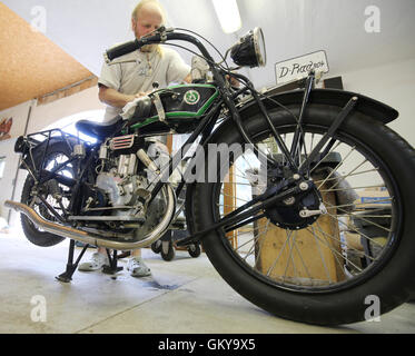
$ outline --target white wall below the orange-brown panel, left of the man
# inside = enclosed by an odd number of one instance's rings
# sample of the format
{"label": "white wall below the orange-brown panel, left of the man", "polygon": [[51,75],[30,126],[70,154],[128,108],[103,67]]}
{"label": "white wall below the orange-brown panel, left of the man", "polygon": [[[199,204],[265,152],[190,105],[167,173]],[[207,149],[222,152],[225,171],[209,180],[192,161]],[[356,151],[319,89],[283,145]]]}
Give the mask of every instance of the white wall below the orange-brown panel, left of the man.
{"label": "white wall below the orange-brown panel, left of the man", "polygon": [[[0,181],[0,216],[6,219],[8,219],[9,209],[3,206],[4,200],[20,200],[21,189],[27,175],[24,170],[19,169],[18,177],[14,181],[20,156],[14,154],[13,148],[17,137],[24,134],[30,103],[31,101],[28,101],[13,108],[0,111],[0,118],[13,118],[11,139],[0,141],[0,156],[6,156],[4,176]],[[105,105],[98,100],[98,87],[82,90],[70,97],[62,98],[39,107],[36,106],[34,102],[28,122],[27,134],[42,130],[65,117],[72,116],[78,112],[100,109],[105,109]],[[14,196],[12,196],[14,182],[17,186],[14,189]],[[12,214],[10,217],[10,224],[16,222],[16,214]]]}

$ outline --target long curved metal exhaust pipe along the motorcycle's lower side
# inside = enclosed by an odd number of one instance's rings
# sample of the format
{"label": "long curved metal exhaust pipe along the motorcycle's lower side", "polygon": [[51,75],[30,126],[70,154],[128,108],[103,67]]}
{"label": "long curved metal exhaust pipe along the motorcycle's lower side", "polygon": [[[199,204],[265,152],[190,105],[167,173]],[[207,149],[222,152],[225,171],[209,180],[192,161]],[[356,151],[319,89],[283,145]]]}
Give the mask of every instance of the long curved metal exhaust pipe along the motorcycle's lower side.
{"label": "long curved metal exhaust pipe along the motorcycle's lower side", "polygon": [[147,247],[151,245],[152,243],[158,240],[161,237],[161,235],[167,230],[167,228],[170,226],[171,219],[175,214],[176,199],[175,199],[175,192],[172,191],[171,187],[169,185],[166,185],[166,187],[167,187],[168,205],[167,205],[167,211],[164,218],[151,233],[147,234],[144,237],[144,239],[139,241],[131,241],[131,243],[108,240],[107,238],[105,238],[103,236],[100,236],[99,234],[87,233],[87,231],[75,229],[68,226],[62,226],[59,224],[48,221],[43,219],[38,212],[36,212],[32,208],[30,208],[26,204],[6,200],[4,206],[11,209],[14,209],[21,214],[24,214],[30,219],[30,221],[32,221],[38,228],[41,228],[45,231],[48,231],[50,234],[67,237],[67,238],[81,241],[85,244],[93,245],[97,247],[105,247],[105,248],[117,249],[117,250],[128,250],[128,249],[142,248],[142,247]]}

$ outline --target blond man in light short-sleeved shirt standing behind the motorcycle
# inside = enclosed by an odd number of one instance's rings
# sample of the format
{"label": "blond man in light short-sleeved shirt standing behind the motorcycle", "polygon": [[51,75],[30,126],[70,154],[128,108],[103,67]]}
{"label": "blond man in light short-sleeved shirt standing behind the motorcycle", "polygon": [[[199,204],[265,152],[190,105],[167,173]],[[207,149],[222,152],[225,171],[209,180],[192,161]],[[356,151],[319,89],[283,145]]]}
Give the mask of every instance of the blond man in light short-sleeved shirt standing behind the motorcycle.
{"label": "blond man in light short-sleeved shirt standing behind the motorcycle", "polygon": [[[137,39],[152,32],[166,21],[165,10],[157,0],[141,0],[131,14],[131,27]],[[103,63],[99,86],[99,99],[107,105],[103,120],[108,121],[119,115],[122,108],[138,97],[150,92],[154,83],[160,88],[171,82],[190,82],[190,67],[170,48],[147,44],[140,50],[117,59],[116,65]],[[109,265],[105,248],[98,248],[90,261],[79,265],[83,271],[101,269]],[[141,258],[141,250],[131,251],[127,270],[134,277],[151,275]]]}

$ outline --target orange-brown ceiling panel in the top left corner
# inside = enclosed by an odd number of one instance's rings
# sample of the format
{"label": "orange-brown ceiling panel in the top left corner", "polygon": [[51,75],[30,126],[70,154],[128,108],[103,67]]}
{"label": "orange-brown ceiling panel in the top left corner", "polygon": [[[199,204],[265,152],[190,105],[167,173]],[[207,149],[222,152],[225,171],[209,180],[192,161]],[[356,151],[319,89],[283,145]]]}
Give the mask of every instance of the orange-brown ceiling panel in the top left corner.
{"label": "orange-brown ceiling panel in the top left corner", "polygon": [[0,2],[0,110],[92,76]]}

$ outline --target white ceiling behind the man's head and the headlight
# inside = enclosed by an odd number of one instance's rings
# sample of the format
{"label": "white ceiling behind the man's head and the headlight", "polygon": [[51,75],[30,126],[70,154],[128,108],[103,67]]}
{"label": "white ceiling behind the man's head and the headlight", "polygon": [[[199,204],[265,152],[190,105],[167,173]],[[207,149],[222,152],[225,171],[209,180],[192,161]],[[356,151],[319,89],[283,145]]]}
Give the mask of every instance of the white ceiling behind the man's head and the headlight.
{"label": "white ceiling behind the man's head and the headlight", "polygon": [[[46,36],[95,75],[102,52],[132,39],[130,13],[138,0],[2,0],[29,23],[36,23],[34,7],[46,12]],[[221,31],[211,0],[160,0],[168,26],[194,30],[223,53],[236,42]],[[325,49],[333,68],[356,70],[415,55],[414,0],[238,0],[243,36],[254,27],[265,34],[268,66],[254,70],[255,83],[275,82],[274,63]],[[381,32],[365,30],[365,10],[376,6]],[[178,42],[195,49],[186,42]],[[176,48],[177,49],[177,48]],[[210,48],[208,46],[210,51]],[[179,50],[181,53],[186,53]],[[218,57],[211,51],[211,55]],[[185,55],[186,57],[186,55]],[[231,61],[229,65],[233,66]]]}

